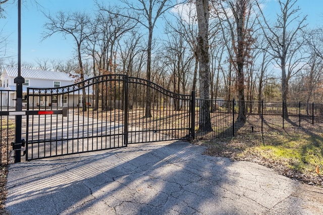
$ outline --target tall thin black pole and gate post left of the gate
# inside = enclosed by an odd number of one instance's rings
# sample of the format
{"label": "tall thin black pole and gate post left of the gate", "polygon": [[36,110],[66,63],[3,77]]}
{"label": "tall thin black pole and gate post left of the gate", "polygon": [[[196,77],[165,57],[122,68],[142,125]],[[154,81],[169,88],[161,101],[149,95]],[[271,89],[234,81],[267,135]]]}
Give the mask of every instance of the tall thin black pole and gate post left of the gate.
{"label": "tall thin black pole and gate post left of the gate", "polygon": [[[21,76],[21,0],[18,0],[18,76],[15,78],[17,91],[16,111],[22,110],[22,84],[25,79]],[[22,116],[16,115],[15,143],[13,145],[15,152],[15,163],[21,162],[21,121]],[[28,128],[27,128],[28,129]]]}

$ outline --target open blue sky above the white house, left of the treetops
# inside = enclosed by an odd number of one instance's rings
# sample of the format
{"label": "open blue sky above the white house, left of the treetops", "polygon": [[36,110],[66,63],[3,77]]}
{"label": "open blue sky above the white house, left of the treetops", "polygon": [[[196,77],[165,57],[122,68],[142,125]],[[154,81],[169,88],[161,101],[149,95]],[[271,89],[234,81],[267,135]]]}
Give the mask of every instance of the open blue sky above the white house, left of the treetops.
{"label": "open blue sky above the white house, left of the treetops", "polygon": [[[17,1],[16,1],[17,2]],[[55,15],[58,11],[92,11],[94,1],[85,0],[38,0],[40,6],[31,3],[31,0],[22,0],[21,7],[21,59],[34,63],[35,59],[66,59],[71,58],[74,50],[74,41],[61,34],[54,34],[44,41],[42,40],[45,13]],[[6,19],[0,20],[0,29],[10,35],[7,54],[17,57],[17,32],[18,32],[18,8],[17,4],[5,6]]]}

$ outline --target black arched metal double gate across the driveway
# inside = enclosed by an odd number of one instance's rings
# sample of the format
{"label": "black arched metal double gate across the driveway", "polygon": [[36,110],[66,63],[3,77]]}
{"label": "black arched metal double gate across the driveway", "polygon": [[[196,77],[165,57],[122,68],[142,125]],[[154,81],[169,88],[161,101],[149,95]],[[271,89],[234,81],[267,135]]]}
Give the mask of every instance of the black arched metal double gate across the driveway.
{"label": "black arched metal double gate across the driveway", "polygon": [[28,88],[25,99],[26,160],[190,137],[190,95],[126,75]]}

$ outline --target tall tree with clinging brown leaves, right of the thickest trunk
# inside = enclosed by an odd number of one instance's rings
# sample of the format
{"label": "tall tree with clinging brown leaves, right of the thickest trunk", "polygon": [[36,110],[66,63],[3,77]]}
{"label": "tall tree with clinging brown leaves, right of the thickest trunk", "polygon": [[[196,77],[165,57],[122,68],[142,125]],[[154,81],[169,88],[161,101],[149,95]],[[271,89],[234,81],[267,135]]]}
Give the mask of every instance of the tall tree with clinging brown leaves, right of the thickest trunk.
{"label": "tall tree with clinging brown leaves, right of the thickest trunk", "polygon": [[[214,13],[222,25],[222,29],[228,28],[232,42],[233,55],[230,57],[236,70],[237,81],[236,90],[238,93],[239,109],[238,121],[244,123],[246,120],[245,111],[245,69],[244,66],[249,63],[251,45],[254,42],[252,31],[254,19],[252,17],[253,0],[233,0],[224,3],[223,1],[214,1]],[[224,27],[224,25],[226,27]]]}

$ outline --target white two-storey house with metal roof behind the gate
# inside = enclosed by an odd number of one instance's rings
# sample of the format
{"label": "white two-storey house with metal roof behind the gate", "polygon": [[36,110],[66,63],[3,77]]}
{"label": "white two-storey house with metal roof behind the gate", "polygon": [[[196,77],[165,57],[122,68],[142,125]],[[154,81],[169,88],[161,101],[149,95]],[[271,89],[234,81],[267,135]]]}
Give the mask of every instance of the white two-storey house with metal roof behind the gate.
{"label": "white two-storey house with metal roof behind the gate", "polygon": [[[1,105],[7,106],[9,104],[10,107],[15,107],[16,101],[16,84],[14,83],[14,79],[18,75],[18,68],[14,67],[6,67],[3,69],[1,73],[1,83],[0,90],[4,90],[1,93]],[[56,88],[56,87],[64,87],[75,84],[75,75],[71,76],[70,74],[63,73],[60,71],[44,71],[39,69],[21,69],[21,76],[25,79],[25,83],[23,84],[23,99],[25,95],[27,95],[27,88]],[[79,76],[79,75],[76,75]],[[88,77],[84,77],[87,79]],[[10,90],[10,91],[8,91]],[[91,87],[86,89],[86,101],[90,106],[93,96],[93,91]],[[30,92],[29,92],[30,93]],[[32,101],[31,101],[32,100]],[[70,94],[63,95],[46,95],[46,96],[37,96],[33,97],[33,99],[29,100],[29,106],[82,106],[82,91],[76,91]],[[23,101],[23,106],[27,105],[27,101]]]}

